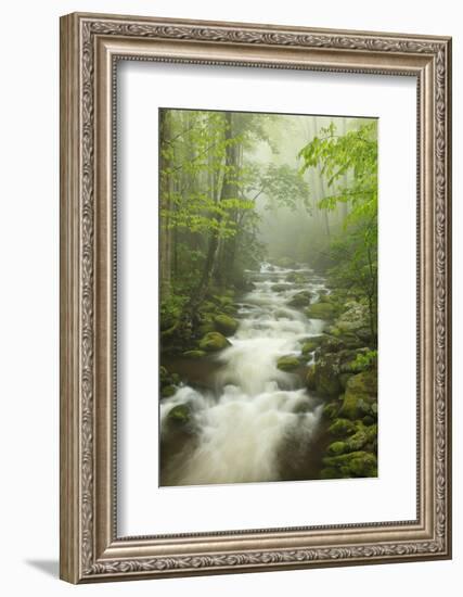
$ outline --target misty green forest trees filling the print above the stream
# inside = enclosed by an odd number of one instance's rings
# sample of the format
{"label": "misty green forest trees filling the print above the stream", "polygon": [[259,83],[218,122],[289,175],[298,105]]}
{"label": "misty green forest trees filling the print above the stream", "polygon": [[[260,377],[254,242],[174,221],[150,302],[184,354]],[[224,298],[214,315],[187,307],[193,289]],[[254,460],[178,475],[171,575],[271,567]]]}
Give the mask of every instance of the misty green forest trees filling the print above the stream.
{"label": "misty green forest trees filling the print above the stream", "polygon": [[188,336],[211,290],[286,258],[352,288],[376,333],[375,119],[163,109],[159,134],[166,329]]}

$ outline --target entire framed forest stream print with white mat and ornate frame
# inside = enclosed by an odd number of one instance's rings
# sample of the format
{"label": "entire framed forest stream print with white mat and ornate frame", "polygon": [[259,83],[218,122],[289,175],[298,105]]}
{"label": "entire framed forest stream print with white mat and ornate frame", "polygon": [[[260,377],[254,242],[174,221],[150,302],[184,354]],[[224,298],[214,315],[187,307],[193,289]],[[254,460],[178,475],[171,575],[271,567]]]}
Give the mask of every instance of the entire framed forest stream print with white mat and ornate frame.
{"label": "entire framed forest stream print with white mat and ornate frame", "polygon": [[61,20],[61,577],[451,557],[451,40]]}

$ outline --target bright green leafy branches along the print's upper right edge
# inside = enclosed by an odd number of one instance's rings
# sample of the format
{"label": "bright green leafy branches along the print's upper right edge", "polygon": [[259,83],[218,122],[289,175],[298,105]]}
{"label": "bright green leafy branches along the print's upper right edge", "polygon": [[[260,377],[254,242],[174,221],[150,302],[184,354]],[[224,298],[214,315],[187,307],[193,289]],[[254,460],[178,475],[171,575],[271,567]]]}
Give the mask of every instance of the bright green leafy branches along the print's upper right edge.
{"label": "bright green leafy branches along the print's upper right edge", "polygon": [[319,207],[333,211],[339,203],[349,212],[344,233],[331,245],[336,283],[362,297],[369,307],[372,338],[377,334],[377,125],[371,122],[337,135],[331,124],[299,152],[300,172],[321,165],[330,194]]}

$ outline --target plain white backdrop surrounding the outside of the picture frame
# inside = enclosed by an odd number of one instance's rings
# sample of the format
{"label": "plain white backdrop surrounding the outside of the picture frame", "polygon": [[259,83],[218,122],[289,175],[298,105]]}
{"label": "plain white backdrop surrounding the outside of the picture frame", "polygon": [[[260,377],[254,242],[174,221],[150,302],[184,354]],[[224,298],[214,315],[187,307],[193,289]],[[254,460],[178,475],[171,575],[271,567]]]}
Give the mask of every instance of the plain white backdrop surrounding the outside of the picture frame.
{"label": "plain white backdrop surrounding the outside of the picture frame", "polygon": [[[461,178],[454,173],[454,559],[297,572],[210,576],[72,587],[56,580],[57,461],[57,231],[59,43],[57,17],[73,10],[157,14],[442,34],[455,37],[453,92],[461,99],[458,2],[390,0],[310,4],[285,2],[156,2],[81,0],[7,3],[2,10],[0,339],[2,364],[1,562],[4,595],[194,596],[313,593],[348,596],[459,595],[463,574],[461,424]],[[3,47],[4,46],[4,47]],[[461,100],[460,100],[461,103]],[[454,164],[462,161],[463,127],[454,115]],[[456,170],[456,167],[455,167]],[[460,271],[459,271],[460,270]]]}

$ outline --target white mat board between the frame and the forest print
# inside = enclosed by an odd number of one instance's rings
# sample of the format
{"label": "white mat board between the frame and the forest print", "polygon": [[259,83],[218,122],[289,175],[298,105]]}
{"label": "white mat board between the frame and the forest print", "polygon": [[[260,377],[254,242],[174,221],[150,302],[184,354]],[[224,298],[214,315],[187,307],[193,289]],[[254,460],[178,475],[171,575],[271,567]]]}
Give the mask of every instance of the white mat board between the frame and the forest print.
{"label": "white mat board between the frame and the forest print", "polygon": [[[118,77],[119,535],[414,520],[416,79],[138,62]],[[380,118],[378,479],[158,488],[158,106]]]}

